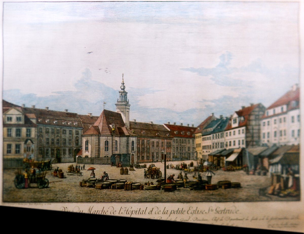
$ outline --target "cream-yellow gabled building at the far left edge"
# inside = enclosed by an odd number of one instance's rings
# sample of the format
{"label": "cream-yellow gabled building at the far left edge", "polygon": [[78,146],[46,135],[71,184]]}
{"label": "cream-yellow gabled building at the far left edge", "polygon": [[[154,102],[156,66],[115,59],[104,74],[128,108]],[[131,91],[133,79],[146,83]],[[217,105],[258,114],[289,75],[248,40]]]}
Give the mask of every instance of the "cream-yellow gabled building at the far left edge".
{"label": "cream-yellow gabled building at the far left edge", "polygon": [[3,158],[21,160],[36,157],[36,127],[22,108],[2,101],[3,108]]}

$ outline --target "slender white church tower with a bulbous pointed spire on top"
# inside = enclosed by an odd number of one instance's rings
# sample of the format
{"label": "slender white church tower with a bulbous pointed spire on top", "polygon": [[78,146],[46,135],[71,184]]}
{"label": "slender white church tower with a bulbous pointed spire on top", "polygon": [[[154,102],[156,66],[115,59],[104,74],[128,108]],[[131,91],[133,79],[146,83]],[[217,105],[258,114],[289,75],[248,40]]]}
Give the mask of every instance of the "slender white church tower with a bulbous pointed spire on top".
{"label": "slender white church tower with a bulbous pointed spire on top", "polygon": [[125,91],[125,83],[122,81],[119,91],[119,99],[117,99],[117,102],[115,103],[116,106],[116,112],[120,113],[123,117],[123,121],[125,122],[126,126],[129,128],[129,122],[130,122],[130,104],[129,100],[127,98],[127,92]]}

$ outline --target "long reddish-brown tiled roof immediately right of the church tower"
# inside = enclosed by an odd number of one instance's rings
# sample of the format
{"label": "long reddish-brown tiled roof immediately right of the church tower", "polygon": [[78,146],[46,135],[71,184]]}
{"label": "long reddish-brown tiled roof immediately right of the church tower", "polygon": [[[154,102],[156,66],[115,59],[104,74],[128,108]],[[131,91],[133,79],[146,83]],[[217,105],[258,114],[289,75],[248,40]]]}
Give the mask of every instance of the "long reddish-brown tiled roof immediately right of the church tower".
{"label": "long reddish-brown tiled roof immediately right of the church tower", "polygon": [[[150,124],[142,122],[131,122],[130,130],[138,137],[166,137],[173,138],[172,134],[162,124]],[[144,133],[143,133],[144,132]]]}

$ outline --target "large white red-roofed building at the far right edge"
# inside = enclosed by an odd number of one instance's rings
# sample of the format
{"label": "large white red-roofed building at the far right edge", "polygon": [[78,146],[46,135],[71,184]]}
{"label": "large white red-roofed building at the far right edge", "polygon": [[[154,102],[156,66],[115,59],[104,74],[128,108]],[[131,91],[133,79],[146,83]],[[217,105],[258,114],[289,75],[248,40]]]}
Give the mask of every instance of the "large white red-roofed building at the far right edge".
{"label": "large white red-roofed building at the far right edge", "polygon": [[292,89],[272,103],[261,120],[261,140],[267,145],[300,143],[300,88]]}

